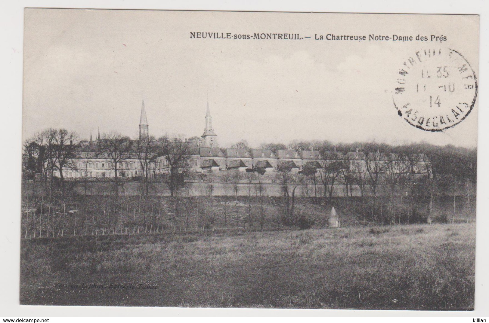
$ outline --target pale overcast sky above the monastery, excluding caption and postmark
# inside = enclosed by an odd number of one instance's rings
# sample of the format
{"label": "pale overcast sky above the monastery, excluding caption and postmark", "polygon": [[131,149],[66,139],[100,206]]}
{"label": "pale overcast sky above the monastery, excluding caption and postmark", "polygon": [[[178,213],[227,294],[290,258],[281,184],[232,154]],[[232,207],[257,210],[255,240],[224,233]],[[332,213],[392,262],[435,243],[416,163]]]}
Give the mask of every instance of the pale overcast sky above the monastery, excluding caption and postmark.
{"label": "pale overcast sky above the monastery, excluding caption and postmark", "polygon": [[190,39],[190,32],[444,35],[478,72],[475,16],[26,9],[23,136],[65,127],[88,139],[202,135],[206,100],[218,141],[330,140],[477,145],[477,104],[441,133],[393,105],[402,62],[421,42]]}

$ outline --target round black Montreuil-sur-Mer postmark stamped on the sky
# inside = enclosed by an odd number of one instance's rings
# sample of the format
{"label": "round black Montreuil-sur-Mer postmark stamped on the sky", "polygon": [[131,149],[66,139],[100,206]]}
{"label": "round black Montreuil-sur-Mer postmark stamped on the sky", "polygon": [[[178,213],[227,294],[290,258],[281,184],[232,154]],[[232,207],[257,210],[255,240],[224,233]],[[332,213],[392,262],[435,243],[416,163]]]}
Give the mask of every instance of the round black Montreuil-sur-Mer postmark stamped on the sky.
{"label": "round black Montreuil-sur-Mer postmark stamped on the sky", "polygon": [[393,95],[399,116],[426,131],[443,131],[460,123],[476,98],[472,67],[449,48],[415,51],[402,63]]}

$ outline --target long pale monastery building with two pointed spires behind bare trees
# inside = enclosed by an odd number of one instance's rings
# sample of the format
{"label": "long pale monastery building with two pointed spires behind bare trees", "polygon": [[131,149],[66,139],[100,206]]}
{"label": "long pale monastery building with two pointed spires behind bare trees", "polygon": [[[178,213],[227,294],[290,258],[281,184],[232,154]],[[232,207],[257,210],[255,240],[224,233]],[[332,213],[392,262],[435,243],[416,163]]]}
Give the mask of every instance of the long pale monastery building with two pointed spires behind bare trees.
{"label": "long pale monastery building with two pointed spires behind bare trees", "polygon": [[[139,121],[139,140],[149,137],[149,123],[146,117],[144,101],[141,106]],[[213,181],[225,181],[223,177],[228,172],[250,172],[260,170],[263,179],[274,182],[277,173],[292,172],[317,174],[325,172],[328,168],[343,167],[351,172],[368,173],[372,167],[376,171],[406,172],[413,174],[425,174],[428,172],[429,162],[423,155],[415,156],[415,160],[401,160],[397,154],[385,154],[370,152],[365,155],[358,150],[353,152],[337,152],[335,149],[329,152],[314,150],[277,150],[270,149],[242,149],[224,148],[218,143],[217,134],[212,126],[209,103],[207,102],[205,115],[205,129],[200,141],[184,142],[188,145],[185,150],[187,159],[187,181],[202,182],[203,179],[212,174]],[[136,141],[133,141],[136,142]],[[133,145],[134,146],[134,145]],[[139,156],[140,157],[140,156]],[[118,177],[130,180],[143,176],[141,159],[132,149],[125,158],[117,164]],[[169,155],[155,151],[148,155],[147,171],[149,178],[164,178],[171,172]],[[89,141],[82,141],[76,149],[76,156],[69,167],[63,171],[67,179],[80,178],[113,178],[115,176],[114,165],[107,154],[102,151],[100,130],[95,140],[90,133]],[[200,175],[201,174],[201,175]],[[60,176],[56,171],[54,176]],[[244,180],[244,177],[241,177]]]}

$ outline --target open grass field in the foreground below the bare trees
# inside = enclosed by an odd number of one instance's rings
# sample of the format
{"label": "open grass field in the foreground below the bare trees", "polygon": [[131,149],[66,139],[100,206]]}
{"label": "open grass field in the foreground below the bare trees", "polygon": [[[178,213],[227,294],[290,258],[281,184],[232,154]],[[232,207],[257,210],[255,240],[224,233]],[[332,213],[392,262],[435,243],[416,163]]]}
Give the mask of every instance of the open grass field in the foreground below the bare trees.
{"label": "open grass field in the foreground below the bare trees", "polygon": [[31,239],[21,262],[22,304],[470,310],[475,223]]}

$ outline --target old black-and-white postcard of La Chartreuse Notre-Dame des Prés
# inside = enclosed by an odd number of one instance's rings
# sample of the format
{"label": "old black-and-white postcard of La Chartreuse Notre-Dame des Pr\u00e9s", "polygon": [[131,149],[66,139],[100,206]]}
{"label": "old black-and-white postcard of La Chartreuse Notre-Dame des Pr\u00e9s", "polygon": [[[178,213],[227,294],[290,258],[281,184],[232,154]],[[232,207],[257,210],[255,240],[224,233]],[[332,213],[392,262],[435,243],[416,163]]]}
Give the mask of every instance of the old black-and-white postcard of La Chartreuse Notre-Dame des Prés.
{"label": "old black-and-white postcard of La Chartreuse Notre-Dame des Pr\u00e9s", "polygon": [[478,63],[478,15],[25,9],[20,303],[473,310]]}

